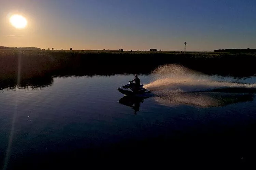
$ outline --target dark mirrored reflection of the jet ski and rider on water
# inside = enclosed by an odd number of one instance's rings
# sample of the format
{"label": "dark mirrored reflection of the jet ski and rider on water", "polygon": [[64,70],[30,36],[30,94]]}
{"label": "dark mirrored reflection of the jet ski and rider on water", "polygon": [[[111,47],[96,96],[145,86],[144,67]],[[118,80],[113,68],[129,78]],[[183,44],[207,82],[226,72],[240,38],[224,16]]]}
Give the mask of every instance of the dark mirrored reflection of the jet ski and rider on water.
{"label": "dark mirrored reflection of the jet ski and rider on water", "polygon": [[124,96],[117,103],[133,108],[134,115],[137,115],[137,111],[140,110],[140,103],[143,103],[144,99],[147,98],[149,97]]}

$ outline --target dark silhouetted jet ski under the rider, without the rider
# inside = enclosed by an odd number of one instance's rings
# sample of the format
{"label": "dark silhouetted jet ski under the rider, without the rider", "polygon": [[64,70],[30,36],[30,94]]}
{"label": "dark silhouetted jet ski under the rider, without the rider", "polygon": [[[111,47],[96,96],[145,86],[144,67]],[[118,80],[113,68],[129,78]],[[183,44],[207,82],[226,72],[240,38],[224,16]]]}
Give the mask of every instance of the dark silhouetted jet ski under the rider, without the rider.
{"label": "dark silhouetted jet ski under the rider, without the rider", "polygon": [[127,95],[127,96],[132,96],[132,95],[135,95],[135,96],[143,96],[143,95],[146,95],[146,94],[150,94],[151,91],[148,91],[147,89],[145,89],[142,85],[140,85],[139,89],[134,91],[134,83],[129,83],[125,86],[122,86],[122,87],[119,87],[117,90],[124,94],[124,95]]}

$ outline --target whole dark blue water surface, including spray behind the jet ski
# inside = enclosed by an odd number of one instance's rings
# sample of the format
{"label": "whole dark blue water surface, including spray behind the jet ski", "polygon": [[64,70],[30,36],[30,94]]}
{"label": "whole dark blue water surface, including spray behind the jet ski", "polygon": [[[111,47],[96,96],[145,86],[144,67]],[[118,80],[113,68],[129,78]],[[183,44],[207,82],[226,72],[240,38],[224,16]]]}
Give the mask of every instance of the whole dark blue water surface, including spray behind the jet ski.
{"label": "whole dark blue water surface, including spray behind the jet ski", "polygon": [[256,77],[169,67],[139,78],[154,96],[118,92],[129,74],[1,90],[2,169],[254,162]]}

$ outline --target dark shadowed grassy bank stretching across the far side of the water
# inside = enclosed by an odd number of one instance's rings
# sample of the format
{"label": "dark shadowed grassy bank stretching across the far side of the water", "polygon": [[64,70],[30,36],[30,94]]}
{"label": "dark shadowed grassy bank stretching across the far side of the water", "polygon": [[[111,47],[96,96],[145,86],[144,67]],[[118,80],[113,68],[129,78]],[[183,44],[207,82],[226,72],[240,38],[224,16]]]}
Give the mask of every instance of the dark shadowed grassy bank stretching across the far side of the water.
{"label": "dark shadowed grassy bank stretching across the far side of the water", "polygon": [[147,74],[166,64],[205,74],[249,77],[256,74],[255,63],[256,57],[247,54],[3,50],[0,89],[17,83],[47,86],[52,77],[64,75]]}

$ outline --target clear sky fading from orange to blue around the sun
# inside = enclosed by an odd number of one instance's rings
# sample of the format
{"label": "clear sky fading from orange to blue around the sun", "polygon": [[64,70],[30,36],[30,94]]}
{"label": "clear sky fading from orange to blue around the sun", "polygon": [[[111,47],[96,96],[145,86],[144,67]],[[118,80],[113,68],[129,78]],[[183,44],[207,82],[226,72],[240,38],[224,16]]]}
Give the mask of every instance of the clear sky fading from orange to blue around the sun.
{"label": "clear sky fading from orange to blue around the sun", "polygon": [[[0,46],[74,50],[256,49],[255,0],[1,0]],[[24,16],[14,28],[10,16]]]}

